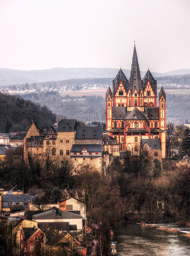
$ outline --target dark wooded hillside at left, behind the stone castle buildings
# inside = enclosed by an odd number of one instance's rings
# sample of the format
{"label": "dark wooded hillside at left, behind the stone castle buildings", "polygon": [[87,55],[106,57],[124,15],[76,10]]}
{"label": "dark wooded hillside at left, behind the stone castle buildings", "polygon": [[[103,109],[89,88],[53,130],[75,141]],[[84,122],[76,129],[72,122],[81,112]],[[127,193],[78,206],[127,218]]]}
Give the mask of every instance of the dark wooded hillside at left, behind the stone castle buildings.
{"label": "dark wooded hillside at left, behind the stone castle buildings", "polygon": [[21,96],[0,93],[0,132],[27,131],[31,121],[42,129],[49,129],[56,122],[56,115],[38,102],[24,100]]}

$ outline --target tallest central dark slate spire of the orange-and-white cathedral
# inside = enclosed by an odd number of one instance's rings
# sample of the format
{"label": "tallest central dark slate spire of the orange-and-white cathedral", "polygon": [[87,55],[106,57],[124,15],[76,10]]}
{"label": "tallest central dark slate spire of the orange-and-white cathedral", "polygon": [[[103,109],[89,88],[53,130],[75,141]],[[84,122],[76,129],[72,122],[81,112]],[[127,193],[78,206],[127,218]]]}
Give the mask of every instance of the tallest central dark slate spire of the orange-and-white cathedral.
{"label": "tallest central dark slate spire of the orange-and-white cathedral", "polygon": [[129,88],[131,89],[132,93],[135,91],[135,89],[139,93],[140,89],[142,88],[142,81],[140,77],[140,70],[139,70],[135,45],[134,45],[134,51],[133,51],[133,60],[132,60],[132,67],[131,67],[131,73],[130,73]]}

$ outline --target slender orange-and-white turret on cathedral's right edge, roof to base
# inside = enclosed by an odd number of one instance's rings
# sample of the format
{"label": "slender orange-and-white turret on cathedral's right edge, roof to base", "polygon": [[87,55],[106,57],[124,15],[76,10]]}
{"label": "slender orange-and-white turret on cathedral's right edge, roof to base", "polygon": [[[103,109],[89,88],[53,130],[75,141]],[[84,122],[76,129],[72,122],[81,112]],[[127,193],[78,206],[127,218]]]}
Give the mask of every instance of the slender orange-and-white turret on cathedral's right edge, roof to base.
{"label": "slender orange-and-white turret on cathedral's right edge, roof to base", "polygon": [[[165,131],[165,100],[166,95],[163,87],[159,92],[159,122],[160,129]],[[162,158],[165,158],[166,153],[166,132],[159,133],[162,147]]]}

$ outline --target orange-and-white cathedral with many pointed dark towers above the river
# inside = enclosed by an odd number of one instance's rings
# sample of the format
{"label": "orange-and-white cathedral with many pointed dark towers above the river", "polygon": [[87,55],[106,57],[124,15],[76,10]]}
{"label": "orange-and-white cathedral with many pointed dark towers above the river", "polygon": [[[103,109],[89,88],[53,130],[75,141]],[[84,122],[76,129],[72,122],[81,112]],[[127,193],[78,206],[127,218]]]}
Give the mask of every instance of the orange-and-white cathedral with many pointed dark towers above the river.
{"label": "orange-and-white cathedral with many pointed dark towers above the river", "polygon": [[106,91],[106,133],[117,139],[120,157],[124,152],[139,155],[143,148],[154,163],[165,158],[165,103],[162,87],[157,106],[157,81],[149,69],[141,79],[134,45],[130,79],[120,68],[113,89]]}

